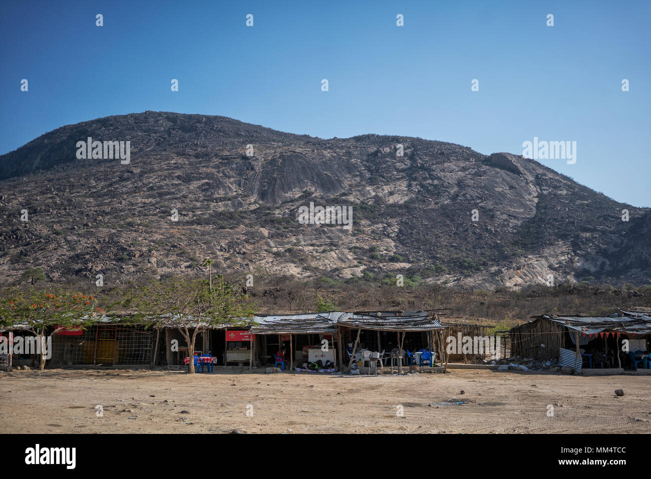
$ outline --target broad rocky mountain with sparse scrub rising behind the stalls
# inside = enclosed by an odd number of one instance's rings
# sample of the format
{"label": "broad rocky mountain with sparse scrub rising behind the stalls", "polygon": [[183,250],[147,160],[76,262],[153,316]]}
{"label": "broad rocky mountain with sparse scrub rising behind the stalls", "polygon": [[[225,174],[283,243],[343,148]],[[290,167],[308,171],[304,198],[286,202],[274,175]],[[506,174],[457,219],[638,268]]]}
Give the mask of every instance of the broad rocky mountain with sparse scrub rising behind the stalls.
{"label": "broad rocky mountain with sparse scrub rising behind the stalls", "polygon": [[[104,143],[102,158],[79,154],[89,137],[130,142],[130,162],[104,156]],[[311,203],[352,208],[352,228],[299,222]],[[651,211],[531,159],[412,137],[321,139],[224,116],[146,111],[46,133],[0,156],[0,218],[2,284],[33,267],[53,282],[101,273],[124,284],[201,273],[206,257],[243,277],[651,282]]]}

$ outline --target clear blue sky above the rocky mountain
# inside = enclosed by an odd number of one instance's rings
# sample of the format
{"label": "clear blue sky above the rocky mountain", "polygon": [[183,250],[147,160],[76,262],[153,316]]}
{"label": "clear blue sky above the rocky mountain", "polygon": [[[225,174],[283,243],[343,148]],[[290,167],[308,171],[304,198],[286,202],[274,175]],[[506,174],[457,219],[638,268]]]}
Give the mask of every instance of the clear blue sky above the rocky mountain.
{"label": "clear blue sky above the rocky mountain", "polygon": [[650,23],[649,1],[5,0],[0,154],[66,124],[145,110],[484,154],[521,154],[538,137],[577,142],[574,165],[545,165],[651,206]]}

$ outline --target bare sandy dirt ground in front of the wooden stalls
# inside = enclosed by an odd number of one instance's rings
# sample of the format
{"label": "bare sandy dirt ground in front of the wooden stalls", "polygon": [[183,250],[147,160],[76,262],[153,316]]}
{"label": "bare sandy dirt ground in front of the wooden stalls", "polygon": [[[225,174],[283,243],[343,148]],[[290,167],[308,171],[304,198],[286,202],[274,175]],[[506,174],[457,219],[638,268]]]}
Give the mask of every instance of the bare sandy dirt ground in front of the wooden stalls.
{"label": "bare sandy dirt ground in front of the wooden stalls", "polygon": [[650,376],[0,372],[0,433],[648,433],[650,397]]}

